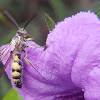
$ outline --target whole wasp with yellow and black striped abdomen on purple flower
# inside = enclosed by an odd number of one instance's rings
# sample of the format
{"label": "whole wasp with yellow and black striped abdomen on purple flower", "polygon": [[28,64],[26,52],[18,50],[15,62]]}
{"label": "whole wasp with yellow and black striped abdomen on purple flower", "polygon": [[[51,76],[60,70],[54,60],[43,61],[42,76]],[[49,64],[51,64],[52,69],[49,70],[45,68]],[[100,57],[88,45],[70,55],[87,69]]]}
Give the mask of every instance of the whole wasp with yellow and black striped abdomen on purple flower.
{"label": "whole wasp with yellow and black striped abdomen on purple flower", "polygon": [[[33,38],[31,38],[29,36],[29,34],[27,33],[27,31],[25,30],[25,27],[28,25],[28,23],[31,21],[31,19],[30,19],[30,21],[28,21],[26,23],[24,28],[20,28],[18,26],[17,22],[13,19],[13,17],[7,11],[5,11],[5,14],[8,15],[8,17],[10,19],[12,19],[12,21],[16,24],[16,26],[18,27],[18,31],[16,32],[16,35],[12,38],[12,41],[8,45],[6,45],[2,50],[0,50],[0,58],[2,61],[5,58],[5,56],[7,55],[7,53],[10,51],[10,48],[11,48],[10,56],[7,59],[2,71],[0,72],[0,77],[3,75],[7,65],[9,64],[9,62],[12,59],[11,75],[12,75],[13,83],[17,88],[22,88],[22,81],[21,81],[22,80],[22,69],[23,69],[23,64],[21,61],[22,52],[25,53],[25,55],[24,55],[25,61],[28,64],[30,64],[38,72],[38,70],[27,59],[27,53],[25,51],[26,47],[36,48],[33,46],[26,45],[27,41],[33,41]],[[42,76],[40,73],[39,73],[39,75]]]}

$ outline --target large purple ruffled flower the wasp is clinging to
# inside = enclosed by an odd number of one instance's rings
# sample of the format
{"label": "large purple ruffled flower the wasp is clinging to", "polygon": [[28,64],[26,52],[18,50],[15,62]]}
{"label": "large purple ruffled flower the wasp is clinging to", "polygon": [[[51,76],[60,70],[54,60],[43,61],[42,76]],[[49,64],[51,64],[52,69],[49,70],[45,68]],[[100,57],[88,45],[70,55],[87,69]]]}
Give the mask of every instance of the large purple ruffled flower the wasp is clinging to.
{"label": "large purple ruffled flower the wasp is clinging to", "polygon": [[[34,42],[27,45],[39,46]],[[22,88],[17,89],[24,100],[100,100],[98,17],[88,11],[65,18],[50,32],[46,45],[46,50],[26,48],[27,59],[44,78],[24,60],[22,53]],[[4,64],[8,57],[9,53]],[[6,68],[10,79],[11,62]],[[11,83],[16,88],[12,79]]]}

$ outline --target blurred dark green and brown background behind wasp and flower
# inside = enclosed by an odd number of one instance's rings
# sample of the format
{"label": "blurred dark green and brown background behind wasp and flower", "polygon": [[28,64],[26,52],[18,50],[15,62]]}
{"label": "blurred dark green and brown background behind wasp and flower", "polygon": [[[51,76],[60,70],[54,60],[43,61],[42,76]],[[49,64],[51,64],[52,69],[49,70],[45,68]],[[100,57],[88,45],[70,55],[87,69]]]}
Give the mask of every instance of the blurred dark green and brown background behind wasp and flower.
{"label": "blurred dark green and brown background behind wasp and flower", "polygon": [[[95,11],[100,0],[0,0],[0,46],[11,41],[18,28],[3,14],[7,10],[20,27],[33,16],[33,20],[26,27],[28,33],[35,38],[39,45],[45,45],[49,33],[44,19],[47,13],[55,23],[76,14],[79,11]],[[100,13],[100,10],[97,10]],[[0,65],[0,70],[3,65]],[[0,79],[0,100],[11,88],[10,80],[6,73]]]}

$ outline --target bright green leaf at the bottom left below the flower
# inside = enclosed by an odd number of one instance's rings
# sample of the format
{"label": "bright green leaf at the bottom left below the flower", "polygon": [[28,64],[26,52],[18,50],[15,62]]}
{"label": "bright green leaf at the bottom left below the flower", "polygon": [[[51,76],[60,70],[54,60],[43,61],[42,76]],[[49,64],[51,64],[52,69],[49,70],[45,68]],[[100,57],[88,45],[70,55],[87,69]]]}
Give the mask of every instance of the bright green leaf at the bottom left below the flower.
{"label": "bright green leaf at the bottom left below the flower", "polygon": [[6,96],[2,100],[24,100],[19,96],[19,93],[16,89],[11,88],[10,91],[6,94]]}

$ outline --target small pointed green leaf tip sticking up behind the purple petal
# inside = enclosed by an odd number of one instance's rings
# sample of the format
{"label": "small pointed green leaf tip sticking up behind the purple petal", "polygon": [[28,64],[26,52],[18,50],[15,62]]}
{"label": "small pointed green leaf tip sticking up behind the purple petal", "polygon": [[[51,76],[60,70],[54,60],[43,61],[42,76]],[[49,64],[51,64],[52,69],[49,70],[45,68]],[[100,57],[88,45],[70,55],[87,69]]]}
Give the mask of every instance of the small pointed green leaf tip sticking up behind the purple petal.
{"label": "small pointed green leaf tip sticking up behind the purple petal", "polygon": [[55,23],[54,21],[48,16],[48,14],[44,14],[45,20],[47,22],[48,28],[50,31],[55,28]]}

